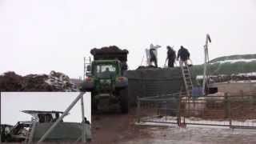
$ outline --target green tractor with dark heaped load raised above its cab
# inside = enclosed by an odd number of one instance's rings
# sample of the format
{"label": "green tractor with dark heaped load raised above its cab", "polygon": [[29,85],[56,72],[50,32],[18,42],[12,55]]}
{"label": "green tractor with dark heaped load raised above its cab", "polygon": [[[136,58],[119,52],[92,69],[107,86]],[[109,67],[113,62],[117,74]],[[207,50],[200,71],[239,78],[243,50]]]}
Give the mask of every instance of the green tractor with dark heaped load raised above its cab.
{"label": "green tractor with dark heaped load raised above its cab", "polygon": [[97,111],[99,105],[119,103],[122,113],[128,113],[128,79],[123,76],[127,70],[128,50],[110,46],[93,49],[90,53],[94,61],[87,66],[89,73],[86,73],[81,90],[91,92],[92,110]]}

